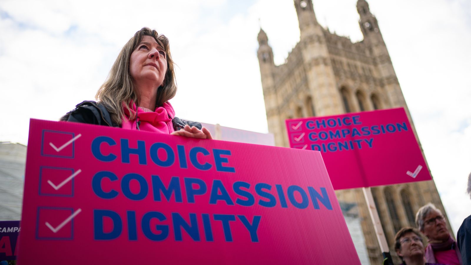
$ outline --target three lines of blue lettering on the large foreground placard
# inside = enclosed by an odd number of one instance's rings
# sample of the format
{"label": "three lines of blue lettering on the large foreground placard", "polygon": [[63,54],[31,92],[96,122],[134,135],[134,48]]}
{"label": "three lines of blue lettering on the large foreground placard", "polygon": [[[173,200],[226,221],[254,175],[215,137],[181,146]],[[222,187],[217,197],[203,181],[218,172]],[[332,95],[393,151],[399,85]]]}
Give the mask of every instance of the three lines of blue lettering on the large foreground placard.
{"label": "three lines of blue lettering on the large foreground placard", "polygon": [[[231,151],[225,149],[207,150],[194,147],[188,151],[184,146],[177,145],[176,149],[162,142],[153,143],[146,149],[144,141],[137,141],[137,148],[130,148],[129,140],[121,139],[120,145],[111,138],[100,136],[91,144],[92,154],[102,162],[121,159],[122,163],[130,163],[130,156],[138,156],[139,164],[146,165],[151,160],[155,165],[168,167],[178,165],[180,169],[189,167],[208,171],[213,166],[216,171],[235,174],[236,168],[231,166]],[[102,148],[115,146],[111,152],[102,152]],[[149,150],[147,152],[146,150]],[[197,157],[205,157],[201,163]],[[162,159],[162,157],[165,157]],[[187,159],[189,157],[189,159]],[[149,159],[150,158],[150,159]],[[189,160],[189,162],[188,162]],[[210,163],[211,162],[211,163]],[[92,189],[100,199],[125,198],[132,201],[151,201],[154,203],[182,203],[207,206],[224,205],[225,207],[280,207],[332,210],[332,204],[324,187],[300,187],[298,185],[281,185],[269,183],[249,183],[242,181],[212,179],[210,181],[195,177],[172,176],[170,180],[157,174],[143,176],[137,173],[116,175],[111,171],[99,171],[92,178]],[[320,203],[319,203],[320,202]],[[152,207],[158,209],[159,207]],[[191,207],[191,208],[198,208]],[[255,211],[254,211],[255,212]],[[175,240],[183,241],[186,233],[193,241],[214,241],[213,232],[220,229],[226,242],[233,241],[234,227],[243,227],[252,242],[259,242],[258,230],[261,215],[245,216],[237,214],[217,213],[186,213],[172,212],[165,214],[161,211],[148,211],[138,214],[127,210],[118,213],[108,209],[93,211],[94,239],[114,240],[127,237],[137,240],[138,229],[144,236],[153,241]],[[106,225],[111,222],[112,225]],[[123,224],[127,224],[124,226]],[[242,224],[242,225],[241,225]],[[111,230],[109,229],[111,227]],[[127,233],[125,232],[127,230]],[[239,230],[237,230],[239,231]]]}

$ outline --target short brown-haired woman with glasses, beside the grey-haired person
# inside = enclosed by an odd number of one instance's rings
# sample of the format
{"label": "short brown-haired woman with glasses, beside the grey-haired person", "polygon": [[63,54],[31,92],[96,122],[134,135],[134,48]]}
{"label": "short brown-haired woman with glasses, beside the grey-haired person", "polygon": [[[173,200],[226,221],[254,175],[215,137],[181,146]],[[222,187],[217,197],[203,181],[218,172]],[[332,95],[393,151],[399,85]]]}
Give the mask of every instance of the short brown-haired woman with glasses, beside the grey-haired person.
{"label": "short brown-haired woman with glasses, beside the grey-haired person", "polygon": [[402,259],[402,265],[441,265],[438,263],[425,263],[425,249],[419,231],[412,227],[404,227],[394,238],[396,253]]}

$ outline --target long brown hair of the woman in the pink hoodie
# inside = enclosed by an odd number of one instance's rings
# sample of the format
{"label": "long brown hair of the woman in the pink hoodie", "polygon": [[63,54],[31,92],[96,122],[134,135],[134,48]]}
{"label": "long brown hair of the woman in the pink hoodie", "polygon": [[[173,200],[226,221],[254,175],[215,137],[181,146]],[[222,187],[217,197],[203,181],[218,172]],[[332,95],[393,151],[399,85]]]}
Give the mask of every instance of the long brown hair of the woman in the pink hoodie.
{"label": "long brown hair of the woman in the pink hoodie", "polygon": [[[136,49],[144,36],[153,37],[165,50],[167,57],[167,72],[165,73],[162,86],[157,89],[156,106],[162,106],[164,102],[173,98],[177,93],[177,82],[173,70],[174,63],[170,54],[169,39],[162,34],[159,35],[155,30],[143,27],[124,44],[118,58],[114,61],[113,67],[111,67],[105,83],[100,86],[95,96],[108,109],[112,121],[119,125],[121,125],[122,117],[124,116],[123,105],[124,108],[130,110],[131,100],[136,103],[136,106],[139,104],[139,99],[132,83],[132,77],[129,73],[129,60],[131,53]],[[129,118],[132,120],[135,118],[135,115],[130,112]]]}

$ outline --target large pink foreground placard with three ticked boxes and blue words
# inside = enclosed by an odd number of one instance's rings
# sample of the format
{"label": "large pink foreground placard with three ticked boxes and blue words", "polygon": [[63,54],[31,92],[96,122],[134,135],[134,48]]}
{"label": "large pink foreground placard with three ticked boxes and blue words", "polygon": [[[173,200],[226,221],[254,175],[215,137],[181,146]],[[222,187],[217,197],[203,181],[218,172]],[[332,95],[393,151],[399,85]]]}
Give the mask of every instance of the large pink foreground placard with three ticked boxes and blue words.
{"label": "large pink foreground placard with three ticked boxes and blue words", "polygon": [[346,261],[319,152],[30,122],[20,265]]}

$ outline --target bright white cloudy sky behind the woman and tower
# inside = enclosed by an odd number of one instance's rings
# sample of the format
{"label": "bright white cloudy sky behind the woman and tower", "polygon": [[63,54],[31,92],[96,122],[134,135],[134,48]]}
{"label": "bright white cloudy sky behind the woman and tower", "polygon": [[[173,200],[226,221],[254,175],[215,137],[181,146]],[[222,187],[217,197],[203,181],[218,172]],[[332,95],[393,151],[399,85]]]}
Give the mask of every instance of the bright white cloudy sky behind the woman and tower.
{"label": "bright white cloudy sky behind the woman and tower", "polygon": [[[471,214],[471,2],[368,2],[456,232]],[[314,8],[321,25],[362,39],[356,0],[315,0]],[[292,0],[0,0],[0,141],[26,144],[29,118],[57,120],[94,99],[143,26],[171,41],[178,116],[268,132],[260,25],[283,63],[299,41]]]}

